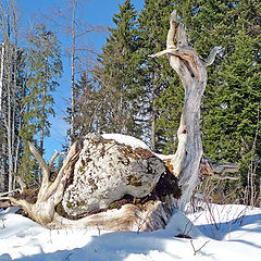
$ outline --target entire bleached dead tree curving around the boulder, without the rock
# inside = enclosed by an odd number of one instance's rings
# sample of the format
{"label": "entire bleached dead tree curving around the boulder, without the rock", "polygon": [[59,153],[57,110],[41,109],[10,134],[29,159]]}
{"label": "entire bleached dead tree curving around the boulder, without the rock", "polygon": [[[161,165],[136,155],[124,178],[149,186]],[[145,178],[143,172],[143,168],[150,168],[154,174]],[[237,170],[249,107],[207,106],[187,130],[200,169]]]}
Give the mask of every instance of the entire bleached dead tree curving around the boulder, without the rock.
{"label": "entire bleached dead tree curving around the boulder, without the rock", "polygon": [[[175,11],[171,14],[170,22],[171,27],[167,35],[166,50],[151,57],[167,54],[171,66],[179,75],[185,88],[185,103],[177,132],[178,148],[171,160],[173,174],[178,178],[178,184],[183,190],[182,198],[179,199],[179,208],[184,208],[198,183],[202,160],[199,120],[200,101],[207,85],[206,69],[214,61],[215,54],[221,48],[215,47],[207,60],[201,59],[192,47],[188,45],[186,32],[183,25],[178,23]],[[94,145],[97,146],[96,142]],[[0,202],[5,206],[22,207],[33,220],[49,228],[99,226],[101,229],[153,231],[164,227],[167,224],[176,203],[176,198],[181,196],[179,194],[179,196],[173,198],[173,195],[166,191],[164,201],[158,199],[151,200],[152,203],[144,208],[146,210],[142,210],[142,208],[140,210],[135,204],[126,203],[120,209],[92,213],[78,220],[69,220],[58,214],[57,207],[63,198],[66,182],[72,177],[75,162],[78,159],[79,152],[76,144],[71,147],[62,169],[52,182],[50,170],[58,153],[52,157],[48,164],[33,145],[30,145],[30,151],[42,170],[42,182],[37,198],[35,201],[29,202],[26,200],[26,197],[22,196],[2,197],[0,198]],[[104,154],[104,151],[101,154]],[[116,166],[113,167],[116,169]],[[174,175],[171,174],[170,176],[173,178]],[[139,186],[135,179],[133,182],[136,186]],[[92,185],[95,186],[96,184]],[[24,185],[21,184],[21,187],[24,188]],[[164,188],[164,186],[162,187]],[[26,189],[24,188],[23,190],[25,194]]]}

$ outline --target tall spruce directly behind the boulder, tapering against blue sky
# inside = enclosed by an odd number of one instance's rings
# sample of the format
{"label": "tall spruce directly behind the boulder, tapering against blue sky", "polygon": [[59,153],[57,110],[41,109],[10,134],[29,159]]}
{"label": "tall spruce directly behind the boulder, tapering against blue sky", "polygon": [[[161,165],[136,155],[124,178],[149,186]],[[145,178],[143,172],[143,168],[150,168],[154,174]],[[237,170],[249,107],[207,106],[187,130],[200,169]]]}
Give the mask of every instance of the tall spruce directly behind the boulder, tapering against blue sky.
{"label": "tall spruce directly behind the boulder, tapering against blue sky", "polygon": [[101,132],[116,132],[139,136],[137,85],[137,12],[130,0],[119,4],[114,14],[114,28],[99,57],[100,67],[94,74],[99,78],[102,97]]}

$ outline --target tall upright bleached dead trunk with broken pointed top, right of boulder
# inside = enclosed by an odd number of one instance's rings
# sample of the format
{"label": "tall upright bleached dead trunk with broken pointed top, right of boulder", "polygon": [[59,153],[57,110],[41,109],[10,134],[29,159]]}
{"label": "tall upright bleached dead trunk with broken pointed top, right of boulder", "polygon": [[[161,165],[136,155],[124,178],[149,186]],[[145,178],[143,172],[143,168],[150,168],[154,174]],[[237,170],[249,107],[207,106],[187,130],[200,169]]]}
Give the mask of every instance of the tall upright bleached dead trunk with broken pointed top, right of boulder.
{"label": "tall upright bleached dead trunk with broken pointed top, right of boulder", "polygon": [[185,28],[178,22],[176,11],[173,11],[166,49],[151,55],[157,58],[166,54],[185,89],[185,102],[177,130],[178,147],[171,161],[174,175],[178,177],[178,184],[183,190],[183,197],[179,200],[181,209],[184,209],[189,201],[198,184],[203,153],[199,126],[201,97],[207,85],[207,66],[213,63],[216,53],[221,50],[221,47],[214,47],[208,59],[201,59],[189,46]]}

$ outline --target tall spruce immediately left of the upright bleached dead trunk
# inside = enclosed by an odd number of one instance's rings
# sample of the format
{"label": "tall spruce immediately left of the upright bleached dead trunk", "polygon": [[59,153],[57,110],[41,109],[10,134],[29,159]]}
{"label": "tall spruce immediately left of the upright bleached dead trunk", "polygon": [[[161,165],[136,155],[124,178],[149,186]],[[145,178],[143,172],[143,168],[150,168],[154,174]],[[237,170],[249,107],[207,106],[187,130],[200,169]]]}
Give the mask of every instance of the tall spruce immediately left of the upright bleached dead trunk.
{"label": "tall spruce immediately left of the upright bleached dead trunk", "polygon": [[172,153],[176,147],[183,87],[165,57],[152,60],[148,55],[165,49],[173,2],[146,0],[138,26],[141,54],[138,79],[145,91],[142,100],[147,140],[152,150],[166,153]]}

